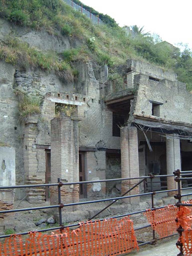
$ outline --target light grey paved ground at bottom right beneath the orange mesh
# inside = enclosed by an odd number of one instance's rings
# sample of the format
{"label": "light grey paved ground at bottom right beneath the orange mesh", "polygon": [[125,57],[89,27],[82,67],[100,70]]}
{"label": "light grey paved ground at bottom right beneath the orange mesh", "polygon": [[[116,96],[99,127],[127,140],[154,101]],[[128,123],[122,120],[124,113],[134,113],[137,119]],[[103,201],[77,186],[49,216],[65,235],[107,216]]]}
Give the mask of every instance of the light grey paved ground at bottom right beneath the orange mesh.
{"label": "light grey paved ground at bottom right beneath the orange mesh", "polygon": [[177,239],[171,239],[169,242],[157,242],[155,246],[148,246],[146,248],[141,248],[140,251],[126,254],[127,256],[177,256],[179,250],[177,249],[175,243]]}

